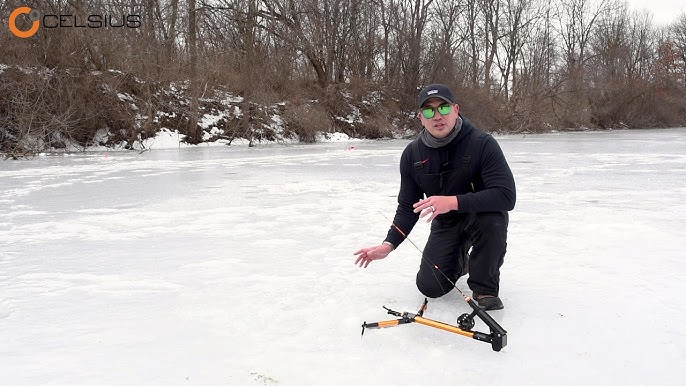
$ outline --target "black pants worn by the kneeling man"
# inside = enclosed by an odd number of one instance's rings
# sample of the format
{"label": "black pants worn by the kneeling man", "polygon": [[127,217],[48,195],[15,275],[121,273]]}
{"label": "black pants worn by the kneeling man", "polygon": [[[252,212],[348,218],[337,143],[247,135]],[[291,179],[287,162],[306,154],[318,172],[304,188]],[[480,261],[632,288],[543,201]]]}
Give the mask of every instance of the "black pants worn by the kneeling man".
{"label": "black pants worn by the kneeling man", "polygon": [[448,213],[434,219],[417,272],[419,291],[430,298],[443,296],[468,269],[472,291],[498,296],[508,222],[507,212]]}

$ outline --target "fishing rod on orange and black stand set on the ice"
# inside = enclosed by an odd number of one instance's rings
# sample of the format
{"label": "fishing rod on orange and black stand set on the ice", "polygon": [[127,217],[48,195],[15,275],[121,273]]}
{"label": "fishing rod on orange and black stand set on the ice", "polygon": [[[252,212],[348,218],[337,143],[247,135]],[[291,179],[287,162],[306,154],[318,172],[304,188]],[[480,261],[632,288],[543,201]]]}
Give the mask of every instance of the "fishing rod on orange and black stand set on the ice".
{"label": "fishing rod on orange and black stand set on the ice", "polygon": [[[386,217],[383,213],[381,213],[381,215],[386,220],[388,220],[391,223],[391,225],[393,225],[393,227],[421,253],[422,260],[424,260],[425,263],[429,264],[438,272],[440,272],[440,274],[443,275],[443,277],[446,278],[448,282],[453,285],[453,288],[457,289],[460,292],[464,300],[467,302],[467,304],[469,304],[473,311],[471,314],[465,313],[460,315],[457,318],[458,325],[454,326],[452,324],[443,323],[437,320],[428,319],[424,317],[424,311],[426,311],[428,304],[427,298],[424,298],[424,303],[422,303],[422,306],[419,308],[419,311],[417,311],[417,313],[398,312],[391,310],[386,306],[383,306],[383,308],[388,312],[388,314],[397,316],[399,317],[399,319],[385,320],[374,323],[367,323],[365,321],[362,323],[362,335],[364,335],[364,330],[368,328],[376,329],[384,327],[394,327],[399,326],[401,324],[416,322],[419,324],[423,324],[425,326],[438,328],[468,338],[476,339],[481,342],[490,343],[491,348],[493,348],[493,351],[500,351],[503,347],[505,347],[507,345],[507,331],[505,331],[505,329],[502,326],[500,326],[500,324],[498,324],[498,322],[496,322],[491,317],[491,315],[489,315],[483,308],[479,307],[479,305],[474,301],[474,299],[465,295],[464,292],[462,292],[462,290],[460,290],[460,288],[457,287],[457,284],[453,280],[451,280],[440,268],[438,268],[436,264],[434,264],[428,257],[425,257],[424,251],[422,251],[417,246],[417,244],[410,240],[410,238],[407,237],[407,234],[405,234],[405,232],[403,232],[402,229],[395,225],[395,223],[388,219],[388,217]],[[475,325],[474,317],[478,317],[488,326],[490,334],[486,334],[479,331],[472,331]]]}

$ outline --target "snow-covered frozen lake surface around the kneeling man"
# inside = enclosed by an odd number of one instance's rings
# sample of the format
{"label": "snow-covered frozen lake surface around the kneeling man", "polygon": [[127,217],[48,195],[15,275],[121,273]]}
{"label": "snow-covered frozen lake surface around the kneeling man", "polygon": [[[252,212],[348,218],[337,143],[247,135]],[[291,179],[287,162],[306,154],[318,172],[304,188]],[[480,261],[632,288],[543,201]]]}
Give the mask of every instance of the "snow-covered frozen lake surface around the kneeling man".
{"label": "snow-covered frozen lake surface around the kneeling man", "polygon": [[[0,162],[0,383],[683,384],[686,129],[497,139],[518,189],[501,352],[360,337],[424,299],[410,243],[352,255],[388,230],[407,141]],[[453,291],[425,316],[465,312]]]}

